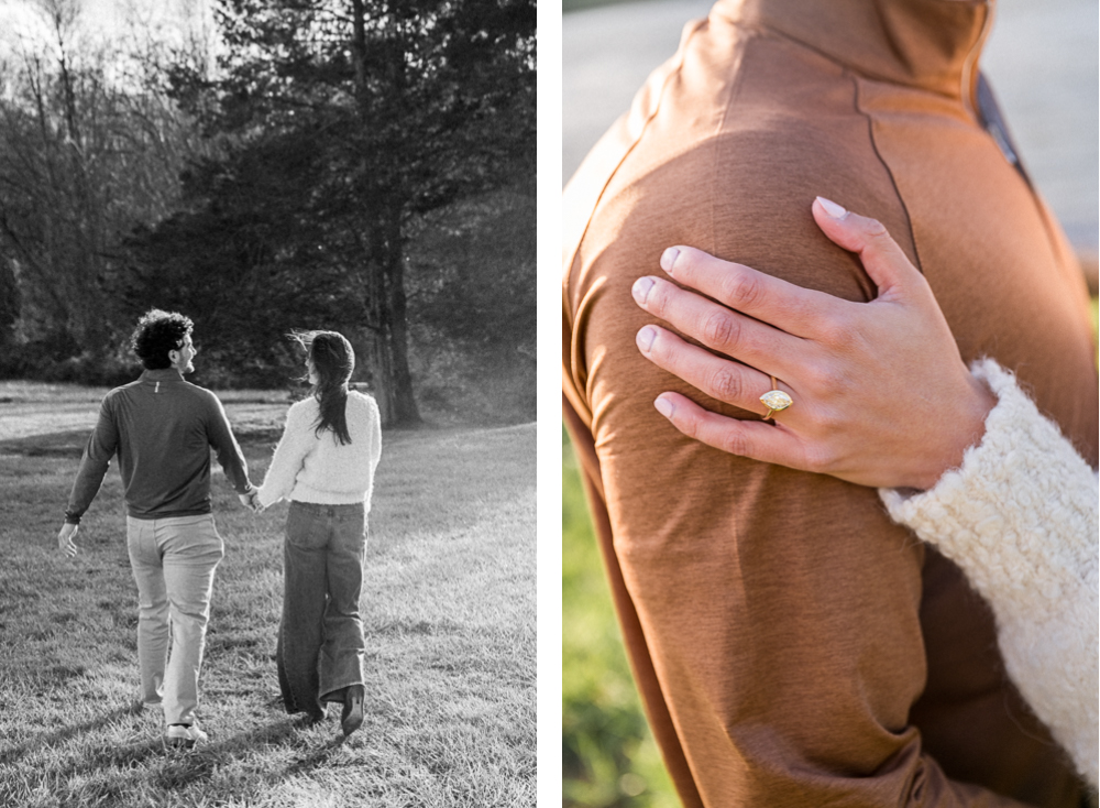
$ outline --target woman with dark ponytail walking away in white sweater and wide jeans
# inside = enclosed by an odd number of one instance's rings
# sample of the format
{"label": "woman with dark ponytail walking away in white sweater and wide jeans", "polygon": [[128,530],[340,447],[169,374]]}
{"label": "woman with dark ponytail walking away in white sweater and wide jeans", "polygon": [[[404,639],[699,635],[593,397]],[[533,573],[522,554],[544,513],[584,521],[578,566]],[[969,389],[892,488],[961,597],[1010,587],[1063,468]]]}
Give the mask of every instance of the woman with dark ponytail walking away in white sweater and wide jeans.
{"label": "woman with dark ponytail walking away in white sweater and wide jeans", "polygon": [[355,353],[342,335],[311,331],[295,338],[307,350],[311,394],[290,406],[257,496],[262,507],[290,502],[276,649],[279,689],[287,712],[305,712],[312,721],[324,718],[326,702],[343,705],[346,736],[363,723],[359,599],[381,419],[374,398],[348,389]]}

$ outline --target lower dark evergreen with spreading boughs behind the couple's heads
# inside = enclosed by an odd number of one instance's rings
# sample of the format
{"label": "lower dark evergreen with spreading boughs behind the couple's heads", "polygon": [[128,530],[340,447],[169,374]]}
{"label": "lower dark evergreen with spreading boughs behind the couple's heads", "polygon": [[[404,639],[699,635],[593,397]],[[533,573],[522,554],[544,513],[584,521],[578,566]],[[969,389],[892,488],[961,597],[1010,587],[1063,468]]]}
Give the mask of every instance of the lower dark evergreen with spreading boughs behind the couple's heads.
{"label": "lower dark evergreen with spreading boughs behind the couple's heads", "polygon": [[340,256],[345,234],[300,204],[318,160],[309,145],[279,133],[195,163],[177,210],[136,229],[109,279],[127,321],[151,304],[196,318],[208,383],[283,384],[301,372],[288,332],[345,329],[361,316]]}

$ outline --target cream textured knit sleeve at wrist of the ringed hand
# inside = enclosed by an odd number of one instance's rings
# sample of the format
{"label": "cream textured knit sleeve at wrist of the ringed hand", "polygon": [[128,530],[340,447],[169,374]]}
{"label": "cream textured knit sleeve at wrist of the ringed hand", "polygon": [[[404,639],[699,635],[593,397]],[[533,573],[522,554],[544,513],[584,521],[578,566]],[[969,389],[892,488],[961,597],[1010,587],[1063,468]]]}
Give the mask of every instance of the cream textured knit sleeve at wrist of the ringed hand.
{"label": "cream textured knit sleeve at wrist of the ringed hand", "polygon": [[1097,786],[1097,472],[992,360],[997,405],[963,465],[891,517],[953,559],[992,607],[1009,676]]}

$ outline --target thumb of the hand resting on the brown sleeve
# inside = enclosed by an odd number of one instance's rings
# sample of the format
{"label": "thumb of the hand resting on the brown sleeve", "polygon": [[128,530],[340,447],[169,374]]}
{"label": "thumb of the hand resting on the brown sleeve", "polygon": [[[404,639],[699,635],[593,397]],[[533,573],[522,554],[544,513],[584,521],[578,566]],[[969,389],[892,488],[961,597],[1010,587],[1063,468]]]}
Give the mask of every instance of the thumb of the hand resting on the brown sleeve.
{"label": "thumb of the hand resting on the brown sleeve", "polygon": [[924,275],[898,247],[878,219],[845,210],[835,201],[817,197],[813,204],[814,220],[828,239],[859,255],[867,274],[878,286],[879,297],[891,297],[924,286]]}

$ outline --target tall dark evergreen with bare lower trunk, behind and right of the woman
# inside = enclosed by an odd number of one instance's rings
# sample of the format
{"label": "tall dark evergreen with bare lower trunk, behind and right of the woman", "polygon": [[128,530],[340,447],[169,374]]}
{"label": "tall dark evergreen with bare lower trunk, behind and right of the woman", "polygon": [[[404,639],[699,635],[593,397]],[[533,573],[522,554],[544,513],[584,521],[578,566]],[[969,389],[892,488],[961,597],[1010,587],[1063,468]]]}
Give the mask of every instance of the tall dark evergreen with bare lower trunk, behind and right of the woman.
{"label": "tall dark evergreen with bare lower trunk, behind and right of the woman", "polygon": [[174,96],[244,150],[309,139],[299,216],[330,225],[383,413],[415,424],[409,233],[431,210],[534,176],[534,0],[220,0],[216,14],[222,77],[184,66]]}

